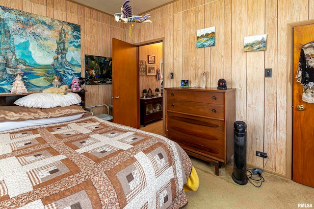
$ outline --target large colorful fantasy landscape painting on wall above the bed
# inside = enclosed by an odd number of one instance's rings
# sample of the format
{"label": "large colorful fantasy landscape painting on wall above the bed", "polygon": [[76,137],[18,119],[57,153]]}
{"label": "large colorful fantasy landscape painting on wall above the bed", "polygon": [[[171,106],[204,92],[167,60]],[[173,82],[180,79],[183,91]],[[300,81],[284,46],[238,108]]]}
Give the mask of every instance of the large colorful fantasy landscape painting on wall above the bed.
{"label": "large colorful fantasy landscape painting on wall above the bed", "polygon": [[0,6],[0,93],[21,73],[28,91],[80,77],[80,26]]}

